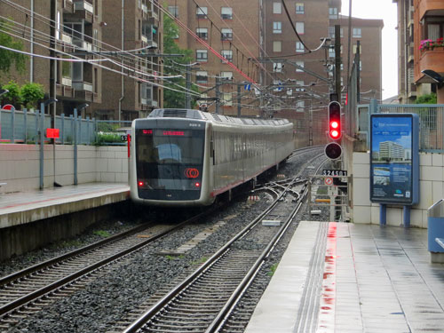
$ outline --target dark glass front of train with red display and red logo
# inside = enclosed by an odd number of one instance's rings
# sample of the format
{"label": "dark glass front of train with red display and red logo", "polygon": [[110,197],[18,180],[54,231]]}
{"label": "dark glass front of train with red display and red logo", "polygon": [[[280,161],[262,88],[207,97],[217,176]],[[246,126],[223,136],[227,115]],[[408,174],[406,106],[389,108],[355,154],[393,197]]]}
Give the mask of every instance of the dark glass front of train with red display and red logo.
{"label": "dark glass front of train with red display and red logo", "polygon": [[204,130],[137,130],[139,189],[200,192],[204,136]]}

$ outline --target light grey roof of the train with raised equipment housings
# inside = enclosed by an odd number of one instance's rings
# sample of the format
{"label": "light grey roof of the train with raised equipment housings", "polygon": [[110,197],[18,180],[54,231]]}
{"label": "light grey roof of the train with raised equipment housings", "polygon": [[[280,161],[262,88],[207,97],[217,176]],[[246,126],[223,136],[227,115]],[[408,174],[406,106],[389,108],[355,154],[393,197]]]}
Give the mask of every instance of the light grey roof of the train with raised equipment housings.
{"label": "light grey roof of the train with raised equipment housings", "polygon": [[188,118],[198,119],[213,123],[237,123],[240,125],[285,125],[287,119],[260,119],[260,118],[237,118],[226,115],[210,114],[199,110],[186,108],[156,108],[148,115],[148,118]]}

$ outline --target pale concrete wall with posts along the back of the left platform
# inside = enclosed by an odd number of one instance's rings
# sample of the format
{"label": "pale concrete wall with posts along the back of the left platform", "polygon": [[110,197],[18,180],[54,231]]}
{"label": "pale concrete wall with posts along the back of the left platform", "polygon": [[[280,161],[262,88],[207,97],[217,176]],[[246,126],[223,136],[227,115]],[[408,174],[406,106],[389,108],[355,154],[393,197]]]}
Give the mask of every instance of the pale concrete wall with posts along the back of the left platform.
{"label": "pale concrete wall with posts along the back of the left platform", "polygon": [[[36,145],[0,145],[0,193],[28,191],[39,188],[40,147]],[[56,146],[55,181],[74,184],[74,147]],[[128,181],[126,147],[78,146],[78,183]],[[44,187],[54,183],[52,145],[44,146]]]}

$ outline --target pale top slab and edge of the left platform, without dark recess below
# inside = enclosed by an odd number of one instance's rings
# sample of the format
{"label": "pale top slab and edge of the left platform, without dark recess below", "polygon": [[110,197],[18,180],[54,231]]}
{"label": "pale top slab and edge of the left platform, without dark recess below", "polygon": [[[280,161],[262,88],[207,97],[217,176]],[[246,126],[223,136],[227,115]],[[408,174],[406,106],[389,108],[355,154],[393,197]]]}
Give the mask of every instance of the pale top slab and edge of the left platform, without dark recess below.
{"label": "pale top slab and edge of the left platform, without dark recess below", "polygon": [[130,186],[122,183],[87,183],[0,194],[0,229],[122,202],[129,195]]}

